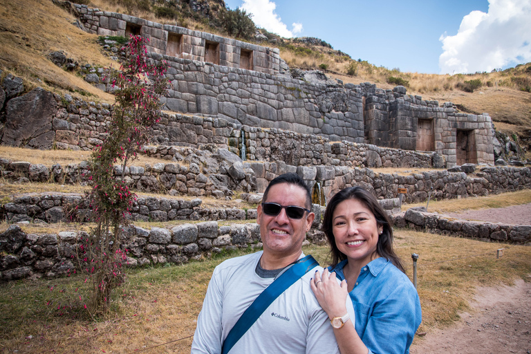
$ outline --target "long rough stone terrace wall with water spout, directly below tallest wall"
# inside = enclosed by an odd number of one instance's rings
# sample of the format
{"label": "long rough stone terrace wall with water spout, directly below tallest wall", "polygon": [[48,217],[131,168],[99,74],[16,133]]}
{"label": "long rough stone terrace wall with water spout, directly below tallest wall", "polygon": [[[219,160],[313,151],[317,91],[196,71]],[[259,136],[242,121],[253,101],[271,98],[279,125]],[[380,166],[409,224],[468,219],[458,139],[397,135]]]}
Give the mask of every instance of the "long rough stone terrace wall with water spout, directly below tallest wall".
{"label": "long rough stone terrace wall with water spout, directly below tallest wall", "polygon": [[[41,109],[32,109],[35,106]],[[110,114],[109,104],[85,102],[71,95],[61,97],[36,88],[8,100],[6,125],[0,140],[3,145],[34,149],[91,150],[106,138]],[[197,115],[165,114],[151,136],[153,144],[163,144],[154,155],[170,160],[174,158],[175,149],[168,145],[201,148],[214,144],[246,160],[283,161],[288,165],[445,166],[444,160],[434,153],[346,141],[329,142],[321,136],[276,128],[239,127],[223,118]],[[160,151],[165,152],[161,154]],[[438,158],[434,160],[435,157]]]}

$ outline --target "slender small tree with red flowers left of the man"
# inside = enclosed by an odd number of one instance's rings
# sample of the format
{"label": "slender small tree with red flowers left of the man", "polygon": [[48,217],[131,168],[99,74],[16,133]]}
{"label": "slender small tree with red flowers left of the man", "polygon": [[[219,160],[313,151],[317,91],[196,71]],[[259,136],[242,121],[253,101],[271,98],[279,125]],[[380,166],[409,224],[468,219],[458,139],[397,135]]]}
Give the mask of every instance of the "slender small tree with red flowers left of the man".
{"label": "slender small tree with red flowers left of the man", "polygon": [[[94,149],[91,161],[89,194],[96,226],[90,236],[82,240],[82,270],[93,283],[88,310],[91,315],[108,309],[111,292],[124,279],[122,262],[127,250],[120,248],[122,227],[129,221],[129,209],[136,199],[126,183],[127,162],[136,157],[140,147],[148,141],[148,131],[161,117],[160,95],[167,89],[165,62],[154,64],[146,57],[145,39],[131,36],[126,59],[115,75],[118,86],[108,136]],[[122,178],[115,178],[114,164],[121,162]]]}

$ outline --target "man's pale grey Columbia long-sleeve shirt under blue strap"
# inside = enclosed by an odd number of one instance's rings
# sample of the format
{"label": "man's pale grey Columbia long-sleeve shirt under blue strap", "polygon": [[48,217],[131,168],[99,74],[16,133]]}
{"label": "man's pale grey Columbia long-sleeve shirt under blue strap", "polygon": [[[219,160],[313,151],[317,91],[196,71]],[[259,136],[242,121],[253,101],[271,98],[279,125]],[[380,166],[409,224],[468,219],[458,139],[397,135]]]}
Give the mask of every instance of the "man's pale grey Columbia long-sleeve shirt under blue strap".
{"label": "man's pale grey Columbia long-sleeve shirt under blue strap", "polygon": [[[274,280],[255,272],[262,252],[228,259],[216,267],[197,321],[192,354],[221,353],[221,345],[252,301]],[[304,257],[304,254],[301,254]],[[283,292],[236,342],[237,353],[339,353],[328,316],[310,288],[315,267]],[[348,312],[353,315],[352,303]]]}

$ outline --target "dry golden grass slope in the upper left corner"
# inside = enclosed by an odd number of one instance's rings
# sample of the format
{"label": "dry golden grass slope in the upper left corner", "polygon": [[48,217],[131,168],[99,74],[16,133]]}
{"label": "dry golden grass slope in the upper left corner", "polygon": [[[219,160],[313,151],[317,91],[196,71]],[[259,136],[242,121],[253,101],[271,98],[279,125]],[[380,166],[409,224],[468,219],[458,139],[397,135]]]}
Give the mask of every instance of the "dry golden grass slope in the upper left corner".
{"label": "dry golden grass slope in the upper left corner", "polygon": [[57,93],[77,91],[101,102],[114,101],[113,95],[55,66],[46,57],[64,50],[80,64],[117,66],[100,53],[96,35],[72,25],[73,15],[47,0],[0,0],[0,8],[0,67],[23,77],[26,90],[41,86]]}

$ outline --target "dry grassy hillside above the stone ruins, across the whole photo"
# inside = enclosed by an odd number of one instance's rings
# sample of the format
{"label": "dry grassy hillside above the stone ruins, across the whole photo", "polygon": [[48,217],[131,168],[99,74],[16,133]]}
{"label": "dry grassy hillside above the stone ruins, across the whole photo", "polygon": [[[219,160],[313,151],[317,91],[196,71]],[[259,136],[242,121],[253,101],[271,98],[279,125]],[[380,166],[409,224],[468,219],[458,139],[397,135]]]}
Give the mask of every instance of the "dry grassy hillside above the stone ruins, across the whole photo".
{"label": "dry grassy hillside above the stone ruins, across the whole photo", "polygon": [[[227,13],[223,0],[196,1],[203,9],[197,12],[190,5],[192,0],[76,2],[230,37],[223,26],[222,19]],[[24,6],[20,6],[21,3]],[[3,76],[13,73],[24,77],[27,91],[42,86],[57,93],[113,101],[112,95],[84,82],[75,71],[67,72],[55,66],[47,57],[50,52],[64,50],[81,66],[86,63],[118,66],[102,54],[96,35],[73,26],[73,15],[52,0],[0,0],[0,9],[0,69]],[[268,37],[268,41],[259,44],[280,48],[281,57],[291,68],[320,69],[344,83],[372,82],[381,88],[402,84],[411,94],[439,102],[454,102],[464,112],[490,113],[497,130],[509,136],[514,133],[524,145],[531,144],[531,63],[505,71],[471,75],[402,73],[399,68],[389,69],[351,58],[320,39],[285,39],[259,30]],[[528,150],[531,149],[528,147]]]}

